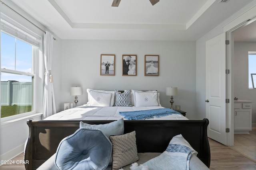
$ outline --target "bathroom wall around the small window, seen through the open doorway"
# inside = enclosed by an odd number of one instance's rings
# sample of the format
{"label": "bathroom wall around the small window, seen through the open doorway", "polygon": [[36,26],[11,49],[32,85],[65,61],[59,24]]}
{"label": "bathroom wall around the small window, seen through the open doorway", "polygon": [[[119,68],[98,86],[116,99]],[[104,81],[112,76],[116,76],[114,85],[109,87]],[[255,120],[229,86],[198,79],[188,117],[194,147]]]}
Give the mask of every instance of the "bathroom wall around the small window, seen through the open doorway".
{"label": "bathroom wall around the small window, seen through the open doorway", "polygon": [[251,100],[252,123],[256,123],[256,89],[248,89],[248,51],[256,51],[255,42],[234,43],[234,97]]}

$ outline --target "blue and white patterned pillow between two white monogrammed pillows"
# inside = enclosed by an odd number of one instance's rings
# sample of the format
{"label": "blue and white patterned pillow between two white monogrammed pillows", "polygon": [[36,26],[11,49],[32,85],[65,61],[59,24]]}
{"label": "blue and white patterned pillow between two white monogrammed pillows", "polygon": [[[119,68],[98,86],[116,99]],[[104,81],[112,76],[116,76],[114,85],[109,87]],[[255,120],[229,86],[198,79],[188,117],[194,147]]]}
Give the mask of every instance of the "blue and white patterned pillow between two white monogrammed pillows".
{"label": "blue and white patterned pillow between two white monogrammed pillows", "polygon": [[132,106],[131,92],[132,90],[124,90],[123,93],[119,93],[115,90],[116,99],[114,106]]}

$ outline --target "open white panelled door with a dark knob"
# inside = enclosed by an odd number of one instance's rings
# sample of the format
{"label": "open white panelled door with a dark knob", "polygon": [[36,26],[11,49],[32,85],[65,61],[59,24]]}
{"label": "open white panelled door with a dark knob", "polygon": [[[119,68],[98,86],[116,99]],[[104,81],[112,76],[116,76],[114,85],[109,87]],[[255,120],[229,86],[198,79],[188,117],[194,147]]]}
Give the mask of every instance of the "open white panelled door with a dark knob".
{"label": "open white panelled door with a dark knob", "polygon": [[227,145],[225,40],[223,33],[206,41],[206,118],[208,137]]}

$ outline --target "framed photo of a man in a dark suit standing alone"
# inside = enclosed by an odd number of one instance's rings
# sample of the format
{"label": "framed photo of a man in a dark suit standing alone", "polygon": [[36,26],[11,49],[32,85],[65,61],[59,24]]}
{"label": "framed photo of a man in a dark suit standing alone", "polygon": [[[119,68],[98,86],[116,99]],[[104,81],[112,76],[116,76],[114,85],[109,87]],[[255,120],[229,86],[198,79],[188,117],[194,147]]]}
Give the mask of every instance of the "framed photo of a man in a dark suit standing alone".
{"label": "framed photo of a man in a dark suit standing alone", "polygon": [[100,75],[114,76],[115,75],[115,58],[114,54],[100,55]]}

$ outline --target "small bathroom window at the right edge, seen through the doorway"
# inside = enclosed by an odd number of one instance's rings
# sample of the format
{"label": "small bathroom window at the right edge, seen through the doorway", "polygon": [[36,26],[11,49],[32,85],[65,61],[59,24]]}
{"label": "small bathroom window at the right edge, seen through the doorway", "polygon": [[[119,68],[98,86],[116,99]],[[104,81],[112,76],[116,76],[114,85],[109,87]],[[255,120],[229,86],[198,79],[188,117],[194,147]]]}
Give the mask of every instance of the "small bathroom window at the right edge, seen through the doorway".
{"label": "small bathroom window at the right edge, seen through the doorway", "polygon": [[248,52],[249,89],[256,88],[256,52]]}

